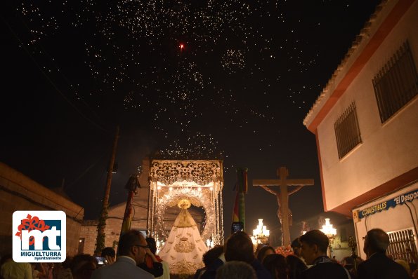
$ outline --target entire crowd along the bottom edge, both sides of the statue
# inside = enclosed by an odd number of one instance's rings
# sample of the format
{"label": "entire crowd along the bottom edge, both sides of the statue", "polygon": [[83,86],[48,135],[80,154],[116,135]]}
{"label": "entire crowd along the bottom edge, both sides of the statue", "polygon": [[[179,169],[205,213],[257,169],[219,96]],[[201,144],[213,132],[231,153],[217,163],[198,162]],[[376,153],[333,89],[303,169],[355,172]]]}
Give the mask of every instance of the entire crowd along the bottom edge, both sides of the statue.
{"label": "entire crowd along the bottom edge, both sides of the statue", "polygon": [[[294,240],[293,254],[287,256],[277,254],[268,245],[254,252],[251,238],[240,231],[231,235],[224,246],[216,245],[203,255],[204,268],[198,269],[193,279],[418,279],[418,271],[412,271],[409,264],[386,255],[386,232],[372,229],[364,241],[367,259],[346,257],[338,262],[327,257],[329,240],[319,230]],[[153,238],[132,230],[120,238],[118,257],[112,247],[102,251],[103,265],[89,254],[78,254],[55,265],[16,263],[11,256],[5,256],[0,262],[0,279],[169,279],[169,266],[156,251]]]}

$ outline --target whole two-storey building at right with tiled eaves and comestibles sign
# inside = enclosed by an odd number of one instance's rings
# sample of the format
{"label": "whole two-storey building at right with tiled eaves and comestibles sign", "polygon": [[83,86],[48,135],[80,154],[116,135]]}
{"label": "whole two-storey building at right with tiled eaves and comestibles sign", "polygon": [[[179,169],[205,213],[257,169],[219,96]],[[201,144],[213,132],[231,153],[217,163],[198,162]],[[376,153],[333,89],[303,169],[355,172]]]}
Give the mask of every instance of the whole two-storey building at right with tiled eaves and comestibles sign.
{"label": "whole two-storey building at right with tiled eaves and comestibles sign", "polygon": [[354,217],[363,259],[376,227],[407,232],[391,240],[393,257],[417,248],[417,15],[417,1],[382,1],[303,121],[316,136],[324,210]]}

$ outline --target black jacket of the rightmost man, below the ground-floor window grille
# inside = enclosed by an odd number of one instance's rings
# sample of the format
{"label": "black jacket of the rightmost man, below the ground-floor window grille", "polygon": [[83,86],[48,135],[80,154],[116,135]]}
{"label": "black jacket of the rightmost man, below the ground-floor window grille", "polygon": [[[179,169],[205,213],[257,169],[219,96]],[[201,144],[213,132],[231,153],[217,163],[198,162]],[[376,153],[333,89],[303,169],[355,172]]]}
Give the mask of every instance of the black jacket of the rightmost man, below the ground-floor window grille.
{"label": "black jacket of the rightmost man, below the ground-floor window grille", "polygon": [[405,268],[386,257],[384,253],[372,254],[370,259],[358,265],[358,279],[407,279]]}

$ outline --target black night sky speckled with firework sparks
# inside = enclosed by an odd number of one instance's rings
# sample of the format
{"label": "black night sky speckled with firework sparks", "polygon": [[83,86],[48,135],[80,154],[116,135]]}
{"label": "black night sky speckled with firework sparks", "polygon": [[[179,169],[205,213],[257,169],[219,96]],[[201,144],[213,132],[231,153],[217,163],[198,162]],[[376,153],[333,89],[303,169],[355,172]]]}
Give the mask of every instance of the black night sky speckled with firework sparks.
{"label": "black night sky speckled with firework sparks", "polygon": [[237,167],[249,231],[280,226],[275,196],[251,184],[280,166],[315,179],[290,198],[294,231],[323,212],[302,121],[379,1],[72,2],[1,4],[0,161],[48,188],[65,179],[94,219],[119,124],[111,205],[159,151],[223,158],[227,234]]}

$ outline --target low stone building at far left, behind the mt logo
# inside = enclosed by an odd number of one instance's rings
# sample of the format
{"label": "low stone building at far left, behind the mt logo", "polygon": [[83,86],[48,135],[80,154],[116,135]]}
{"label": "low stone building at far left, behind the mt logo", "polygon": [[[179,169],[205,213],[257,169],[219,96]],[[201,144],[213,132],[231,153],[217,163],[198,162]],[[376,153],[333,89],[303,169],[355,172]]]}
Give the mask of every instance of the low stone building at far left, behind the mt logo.
{"label": "low stone building at far left, behind the mt logo", "polygon": [[62,210],[67,215],[67,254],[77,254],[83,207],[0,162],[0,255],[12,251],[16,210]]}

